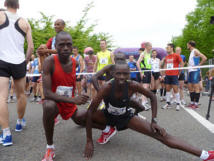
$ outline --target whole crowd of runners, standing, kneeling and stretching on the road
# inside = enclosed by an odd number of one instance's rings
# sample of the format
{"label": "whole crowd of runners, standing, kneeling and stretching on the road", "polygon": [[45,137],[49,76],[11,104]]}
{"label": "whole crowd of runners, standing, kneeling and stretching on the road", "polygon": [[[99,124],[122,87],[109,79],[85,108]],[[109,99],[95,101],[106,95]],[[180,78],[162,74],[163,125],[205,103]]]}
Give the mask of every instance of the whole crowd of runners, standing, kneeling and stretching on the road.
{"label": "whole crowd of runners, standing, kneeling and stretching on the road", "polygon": [[[126,60],[124,53],[108,50],[106,40],[100,40],[99,52],[87,47],[81,55],[78,47],[73,46],[71,35],[64,31],[64,20],[58,19],[54,23],[56,35],[47,44],[41,44],[34,56],[31,27],[17,14],[18,0],[5,0],[5,7],[7,10],[0,11],[0,143],[3,146],[13,144],[7,102],[14,99],[15,92],[18,112],[15,131],[20,132],[26,126],[26,95],[32,93],[31,101],[43,106],[47,146],[42,161],[52,161],[55,157],[53,134],[59,116],[86,127],[84,156],[87,159],[94,152],[92,128],[101,130],[99,144],[106,144],[117,131],[130,128],[204,161],[214,160],[214,151],[201,150],[177,139],[160,127],[157,120],[157,91],[160,101],[166,101],[162,109],[171,108],[175,102],[179,111],[186,105],[185,81],[190,95],[187,107],[199,108],[201,71],[197,66],[203,65],[207,58],[194,41],[187,43],[188,58],[181,54],[180,47],[169,43],[167,56],[160,60],[152,44],[146,42],[145,48],[139,49],[137,60],[133,55]],[[174,69],[185,64],[189,67],[187,76],[186,71]],[[208,72],[209,79],[213,73],[214,70]],[[8,91],[11,91],[10,100]],[[77,105],[88,102],[88,109],[78,109]],[[150,108],[152,119],[148,122],[139,112]]]}

